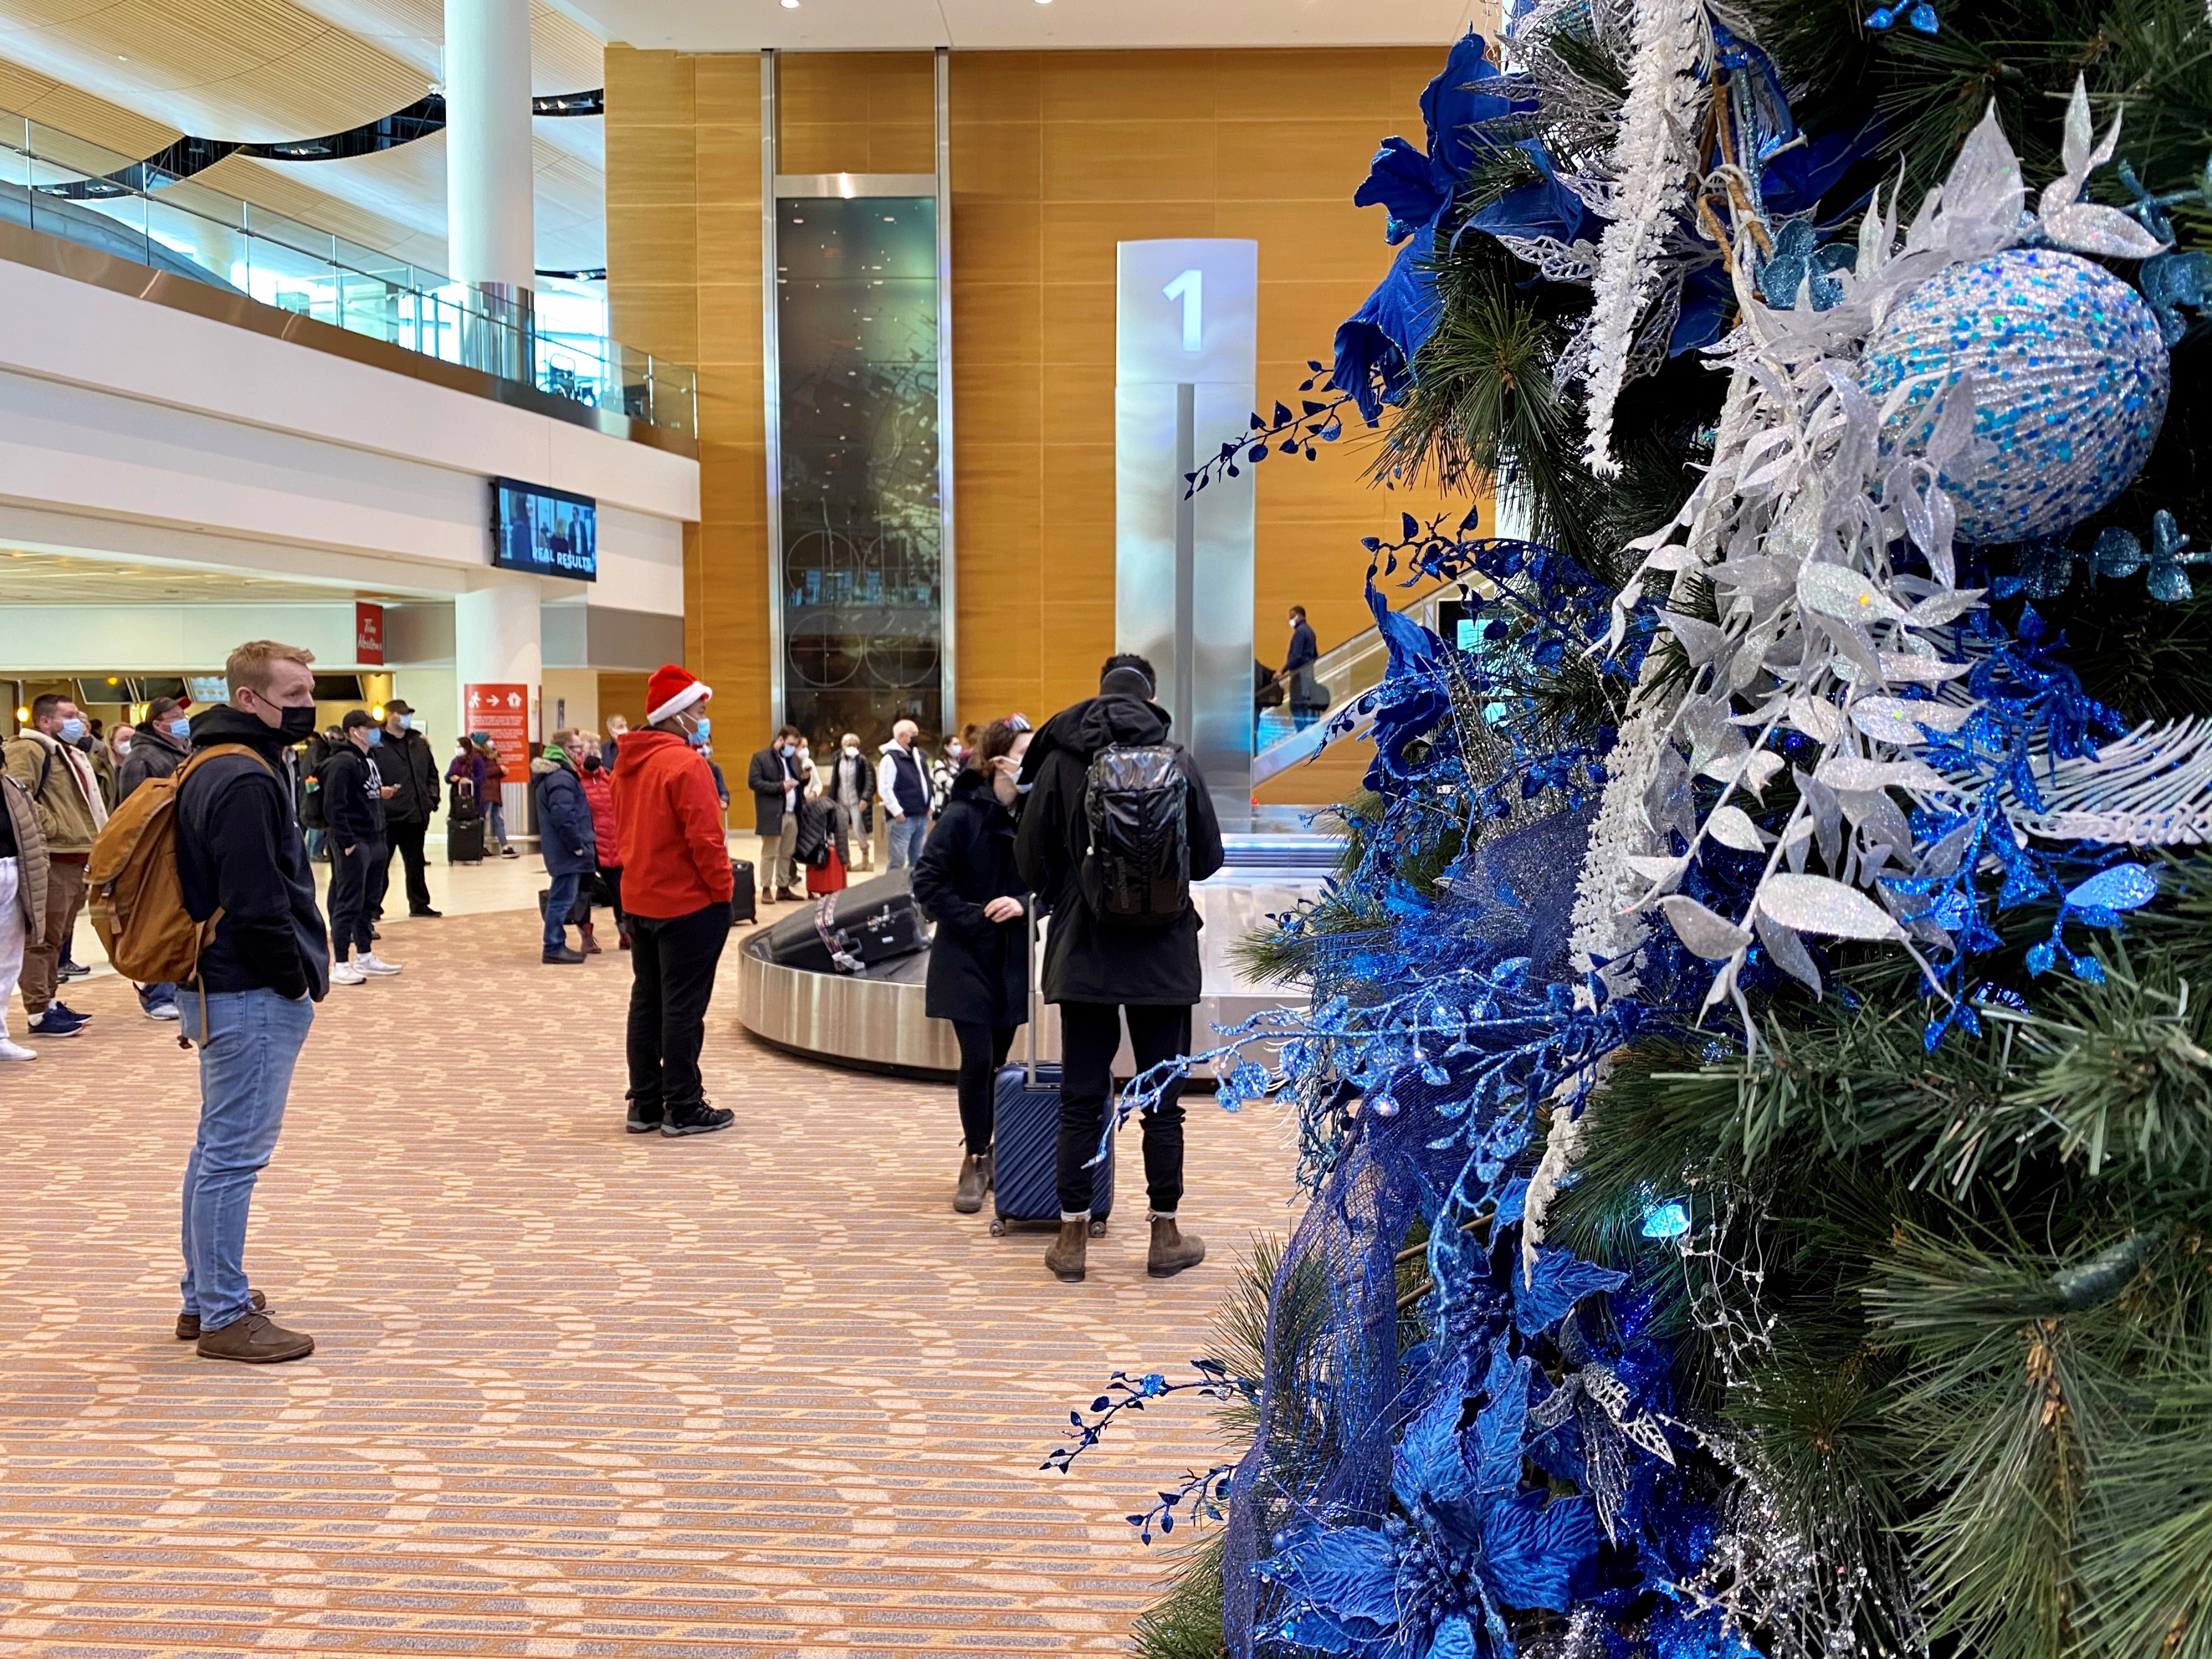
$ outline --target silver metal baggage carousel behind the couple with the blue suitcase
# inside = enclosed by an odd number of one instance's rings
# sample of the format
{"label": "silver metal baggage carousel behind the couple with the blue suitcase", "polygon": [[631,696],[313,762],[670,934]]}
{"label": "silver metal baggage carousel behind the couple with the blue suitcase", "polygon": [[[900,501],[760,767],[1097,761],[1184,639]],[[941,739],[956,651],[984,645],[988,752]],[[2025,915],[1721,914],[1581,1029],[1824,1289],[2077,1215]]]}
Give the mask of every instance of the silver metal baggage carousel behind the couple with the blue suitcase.
{"label": "silver metal baggage carousel behind the couple with the blue suitcase", "polygon": [[[1221,872],[1190,889],[1206,920],[1199,931],[1206,991],[1190,1022],[1192,1048],[1201,1051],[1214,1046],[1214,1026],[1292,1004],[1283,987],[1254,984],[1243,975],[1234,945],[1263,927],[1270,914],[1316,898],[1343,854],[1343,841],[1310,834],[1223,836],[1223,847],[1228,863]],[[922,1013],[929,951],[874,962],[856,973],[821,973],[770,960],[768,929],[757,929],[739,947],[737,975],[739,1024],[776,1048],[860,1071],[949,1077],[960,1068],[951,1024]],[[1024,1031],[1013,1053],[1020,1060],[1026,1051]],[[1042,1009],[1037,1057],[1060,1057],[1055,1009]],[[1126,1037],[1115,1071],[1124,1077],[1133,1071]]]}

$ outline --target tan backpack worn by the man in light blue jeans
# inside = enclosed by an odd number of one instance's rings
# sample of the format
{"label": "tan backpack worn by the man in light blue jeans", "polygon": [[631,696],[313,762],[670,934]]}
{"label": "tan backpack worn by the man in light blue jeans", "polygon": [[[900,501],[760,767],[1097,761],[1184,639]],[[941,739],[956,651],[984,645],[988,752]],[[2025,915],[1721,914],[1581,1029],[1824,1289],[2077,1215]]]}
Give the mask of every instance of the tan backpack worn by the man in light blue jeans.
{"label": "tan backpack worn by the man in light blue jeans", "polygon": [[270,772],[270,763],[246,743],[204,748],[170,776],[137,785],[93,843],[84,869],[93,931],[106,945],[115,971],[137,984],[190,984],[199,973],[201,949],[215,938],[221,911],[195,922],[184,907],[177,796],[192,770],[219,754],[252,754],[254,765]]}

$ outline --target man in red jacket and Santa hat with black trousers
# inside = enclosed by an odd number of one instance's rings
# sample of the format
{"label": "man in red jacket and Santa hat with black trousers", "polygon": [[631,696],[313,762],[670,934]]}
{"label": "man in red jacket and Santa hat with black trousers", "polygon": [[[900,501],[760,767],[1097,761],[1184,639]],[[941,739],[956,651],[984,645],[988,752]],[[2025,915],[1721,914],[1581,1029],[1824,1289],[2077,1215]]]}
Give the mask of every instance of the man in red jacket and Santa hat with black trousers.
{"label": "man in red jacket and Santa hat with black trousers", "polygon": [[630,918],[630,1135],[710,1135],[737,1113],[706,1102],[699,1048],[730,938],[730,847],[699,754],[714,692],[675,664],[646,681],[646,730],[622,739],[622,909]]}

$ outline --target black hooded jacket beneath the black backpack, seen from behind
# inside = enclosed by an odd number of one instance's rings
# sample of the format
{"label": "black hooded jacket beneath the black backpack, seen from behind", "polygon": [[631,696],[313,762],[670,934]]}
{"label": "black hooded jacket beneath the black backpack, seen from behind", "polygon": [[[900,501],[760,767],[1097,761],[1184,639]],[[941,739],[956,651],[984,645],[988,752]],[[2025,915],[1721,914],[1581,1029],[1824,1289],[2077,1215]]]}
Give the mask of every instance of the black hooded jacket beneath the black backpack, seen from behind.
{"label": "black hooded jacket beneath the black backpack, seen from behind", "polygon": [[[1022,880],[1044,898],[1053,916],[1044,938],[1046,1002],[1188,1006],[1199,1000],[1203,975],[1194,905],[1186,902],[1172,927],[1117,927],[1093,916],[1077,887],[1077,872],[1091,847],[1091,825],[1084,821],[1091,757],[1108,743],[1166,741],[1168,712],[1141,697],[1084,699],[1044,721],[1044,730],[1029,741],[1022,781],[1031,790],[1022,805],[1015,858]],[[1221,821],[1199,768],[1190,754],[1177,754],[1190,792],[1190,880],[1206,880],[1221,869]]]}

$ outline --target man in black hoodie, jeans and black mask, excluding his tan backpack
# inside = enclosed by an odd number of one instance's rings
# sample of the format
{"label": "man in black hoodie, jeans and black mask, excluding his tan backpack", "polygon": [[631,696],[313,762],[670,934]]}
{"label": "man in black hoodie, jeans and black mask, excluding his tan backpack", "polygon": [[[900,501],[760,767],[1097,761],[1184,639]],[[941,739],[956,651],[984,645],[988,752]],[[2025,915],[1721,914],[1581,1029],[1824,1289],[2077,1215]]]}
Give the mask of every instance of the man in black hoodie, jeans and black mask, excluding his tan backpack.
{"label": "man in black hoodie, jeans and black mask, excluding his tan backpack", "polygon": [[314,655],[257,639],[230,653],[230,701],[192,719],[192,750],[243,745],[177,794],[184,907],[215,920],[177,991],[199,1044],[199,1139],[184,1172],[184,1312],[177,1340],[208,1360],[268,1365],[314,1352],[274,1325],[246,1283],[246,1212],[276,1148],[292,1068],[330,989],[330,942],[292,801],[292,745],[314,734]]}

